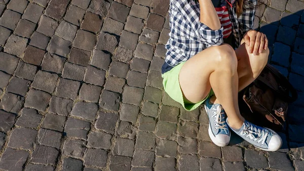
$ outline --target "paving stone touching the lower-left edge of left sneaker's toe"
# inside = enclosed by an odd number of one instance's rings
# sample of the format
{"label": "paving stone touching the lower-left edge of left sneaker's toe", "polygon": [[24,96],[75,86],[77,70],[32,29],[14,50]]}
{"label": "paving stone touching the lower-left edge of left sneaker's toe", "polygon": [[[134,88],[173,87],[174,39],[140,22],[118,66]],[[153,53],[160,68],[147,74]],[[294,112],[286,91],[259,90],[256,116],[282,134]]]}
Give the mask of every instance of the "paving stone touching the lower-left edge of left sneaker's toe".
{"label": "paving stone touching the lower-left edge of left sneaker's toe", "polygon": [[220,147],[209,142],[200,142],[199,154],[204,157],[221,158]]}

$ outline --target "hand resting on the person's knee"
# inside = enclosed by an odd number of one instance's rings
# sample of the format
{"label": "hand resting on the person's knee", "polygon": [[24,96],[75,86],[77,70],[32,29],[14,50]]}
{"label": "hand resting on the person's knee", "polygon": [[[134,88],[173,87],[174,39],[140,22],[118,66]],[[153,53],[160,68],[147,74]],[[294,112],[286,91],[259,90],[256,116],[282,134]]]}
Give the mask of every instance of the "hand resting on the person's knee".
{"label": "hand resting on the person's knee", "polygon": [[268,39],[266,35],[255,30],[249,30],[245,33],[244,41],[247,46],[249,46],[249,53],[257,55],[262,53],[263,49],[268,47]]}

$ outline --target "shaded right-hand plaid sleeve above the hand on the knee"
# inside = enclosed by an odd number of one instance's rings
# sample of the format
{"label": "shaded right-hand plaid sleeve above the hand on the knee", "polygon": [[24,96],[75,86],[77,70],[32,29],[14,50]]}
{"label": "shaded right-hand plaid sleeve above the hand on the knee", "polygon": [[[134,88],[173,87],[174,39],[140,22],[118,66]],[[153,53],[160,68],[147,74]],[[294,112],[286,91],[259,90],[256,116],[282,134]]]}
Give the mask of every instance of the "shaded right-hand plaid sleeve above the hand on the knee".
{"label": "shaded right-hand plaid sleeve above the hand on the knee", "polygon": [[256,4],[257,0],[244,0],[245,10],[238,18],[241,39],[248,30],[253,28]]}

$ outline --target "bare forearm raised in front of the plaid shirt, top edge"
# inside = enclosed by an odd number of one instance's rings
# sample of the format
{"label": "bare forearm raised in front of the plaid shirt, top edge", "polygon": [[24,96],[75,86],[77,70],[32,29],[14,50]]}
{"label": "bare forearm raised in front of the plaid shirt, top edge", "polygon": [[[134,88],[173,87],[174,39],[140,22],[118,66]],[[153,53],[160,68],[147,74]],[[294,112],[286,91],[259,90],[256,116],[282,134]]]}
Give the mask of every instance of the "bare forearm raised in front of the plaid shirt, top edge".
{"label": "bare forearm raised in front of the plaid shirt, top edge", "polygon": [[220,21],[211,0],[199,0],[199,3],[201,9],[200,21],[212,30],[220,29]]}

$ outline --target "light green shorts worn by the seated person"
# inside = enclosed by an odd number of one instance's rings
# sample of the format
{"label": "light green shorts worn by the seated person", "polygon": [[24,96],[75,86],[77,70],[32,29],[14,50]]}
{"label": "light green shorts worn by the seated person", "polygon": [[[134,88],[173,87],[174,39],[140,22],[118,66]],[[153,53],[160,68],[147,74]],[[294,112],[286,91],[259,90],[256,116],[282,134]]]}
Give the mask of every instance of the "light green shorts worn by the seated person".
{"label": "light green shorts worn by the seated person", "polygon": [[211,89],[207,97],[202,101],[196,104],[185,104],[182,91],[179,86],[179,72],[184,63],[185,61],[179,63],[178,65],[174,66],[173,69],[162,75],[162,77],[164,78],[163,85],[165,91],[172,99],[179,102],[184,107],[185,110],[192,111],[198,108],[208,97],[212,96],[214,93]]}

